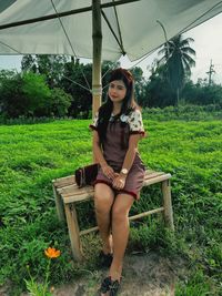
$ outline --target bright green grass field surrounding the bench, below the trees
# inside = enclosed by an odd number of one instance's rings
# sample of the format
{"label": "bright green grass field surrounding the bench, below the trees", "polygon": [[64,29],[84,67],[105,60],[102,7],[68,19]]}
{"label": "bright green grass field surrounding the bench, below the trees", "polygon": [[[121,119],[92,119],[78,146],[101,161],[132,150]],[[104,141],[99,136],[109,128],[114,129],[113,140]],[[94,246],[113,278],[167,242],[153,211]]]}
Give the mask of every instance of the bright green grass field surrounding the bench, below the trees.
{"label": "bright green grass field surrounding the bench, below the trees", "polygon": [[[72,262],[69,236],[57,220],[51,187],[53,178],[91,162],[89,123],[65,120],[0,125],[0,285],[10,279],[11,295],[20,295],[24,288],[27,265],[41,280],[43,249],[49,245],[62,252],[53,262],[51,283],[67,283],[95,268],[94,253],[100,246],[94,235],[84,238],[88,252],[82,265]],[[180,254],[189,268],[176,295],[220,295],[222,123],[145,120],[144,124],[149,136],[140,142],[140,152],[145,165],[173,175],[175,235],[164,228],[159,216],[144,218],[150,227],[142,221],[132,223],[129,252],[158,248],[169,256]],[[144,188],[132,214],[160,202],[159,186]],[[93,225],[91,208],[92,204],[80,204],[81,227]]]}

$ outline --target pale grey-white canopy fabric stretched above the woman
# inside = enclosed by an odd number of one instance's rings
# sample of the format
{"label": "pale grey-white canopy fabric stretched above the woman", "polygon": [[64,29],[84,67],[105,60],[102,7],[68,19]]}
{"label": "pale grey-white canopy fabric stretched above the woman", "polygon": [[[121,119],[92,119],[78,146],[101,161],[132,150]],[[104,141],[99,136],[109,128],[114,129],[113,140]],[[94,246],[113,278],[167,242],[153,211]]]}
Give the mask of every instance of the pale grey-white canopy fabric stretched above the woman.
{"label": "pale grey-white canopy fabric stretched above the woman", "polygon": [[[101,0],[101,4],[108,2],[112,0]],[[58,18],[2,29],[7,23],[53,14],[53,4],[60,13],[92,3],[90,0],[0,1],[0,54],[77,54],[79,58],[92,58],[92,11],[60,18],[70,42]],[[115,10],[113,7],[102,8],[102,60],[115,61],[125,52],[134,61],[159,48],[165,39],[158,21],[171,39],[221,11],[222,1],[219,0],[140,0],[119,4]],[[122,39],[122,49],[110,27],[117,38]]]}

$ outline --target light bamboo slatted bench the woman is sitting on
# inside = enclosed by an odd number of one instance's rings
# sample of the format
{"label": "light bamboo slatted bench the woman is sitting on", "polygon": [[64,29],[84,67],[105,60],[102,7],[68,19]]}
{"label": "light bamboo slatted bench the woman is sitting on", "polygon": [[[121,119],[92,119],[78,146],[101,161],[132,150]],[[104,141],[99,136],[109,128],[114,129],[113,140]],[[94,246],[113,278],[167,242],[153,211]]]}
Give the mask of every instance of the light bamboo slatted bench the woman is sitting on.
{"label": "light bamboo slatted bench the woman is sitting on", "polygon": [[[171,174],[163,172],[154,172],[151,170],[145,171],[143,187],[160,183],[163,196],[163,206],[130,216],[130,221],[162,212],[165,224],[172,231],[174,229],[170,177]],[[80,236],[97,231],[98,226],[84,231],[79,229],[75,203],[92,198],[94,190],[92,186],[79,188],[73,175],[53,180],[52,184],[59,220],[67,221],[73,257],[77,261],[81,261],[82,247]]]}

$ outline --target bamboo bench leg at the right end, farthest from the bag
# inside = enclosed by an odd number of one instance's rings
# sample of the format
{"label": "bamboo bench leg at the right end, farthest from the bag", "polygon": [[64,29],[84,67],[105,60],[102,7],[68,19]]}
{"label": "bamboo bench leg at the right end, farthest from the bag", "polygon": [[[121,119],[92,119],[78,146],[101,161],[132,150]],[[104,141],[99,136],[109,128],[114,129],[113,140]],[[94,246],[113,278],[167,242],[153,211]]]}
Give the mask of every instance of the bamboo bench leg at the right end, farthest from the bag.
{"label": "bamboo bench leg at the right end, farthest from the bag", "polygon": [[164,207],[164,221],[165,224],[174,231],[173,225],[173,210],[171,202],[171,188],[170,188],[170,180],[165,180],[161,183],[162,194],[163,194],[163,207]]}

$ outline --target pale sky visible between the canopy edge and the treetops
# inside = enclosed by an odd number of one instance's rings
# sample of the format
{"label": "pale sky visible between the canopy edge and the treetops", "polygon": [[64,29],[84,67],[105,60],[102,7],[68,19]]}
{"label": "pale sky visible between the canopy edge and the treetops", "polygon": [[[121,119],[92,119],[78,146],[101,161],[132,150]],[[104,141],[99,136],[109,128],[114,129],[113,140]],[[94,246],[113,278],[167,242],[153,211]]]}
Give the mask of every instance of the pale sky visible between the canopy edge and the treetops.
{"label": "pale sky visible between the canopy edge and the treetops", "polygon": [[[222,83],[222,13],[212,18],[211,20],[198,25],[196,28],[188,31],[184,37],[191,37],[194,42],[191,47],[196,52],[195,68],[192,68],[191,79],[196,82],[198,78],[208,79],[206,72],[210,70],[212,61],[213,70],[212,79],[216,83]],[[16,69],[20,71],[21,55],[0,55],[0,70]],[[157,51],[142,61],[131,63],[128,58],[121,58],[121,67],[131,68],[133,65],[141,67],[144,76],[149,78],[150,68],[153,60],[158,58]]]}

